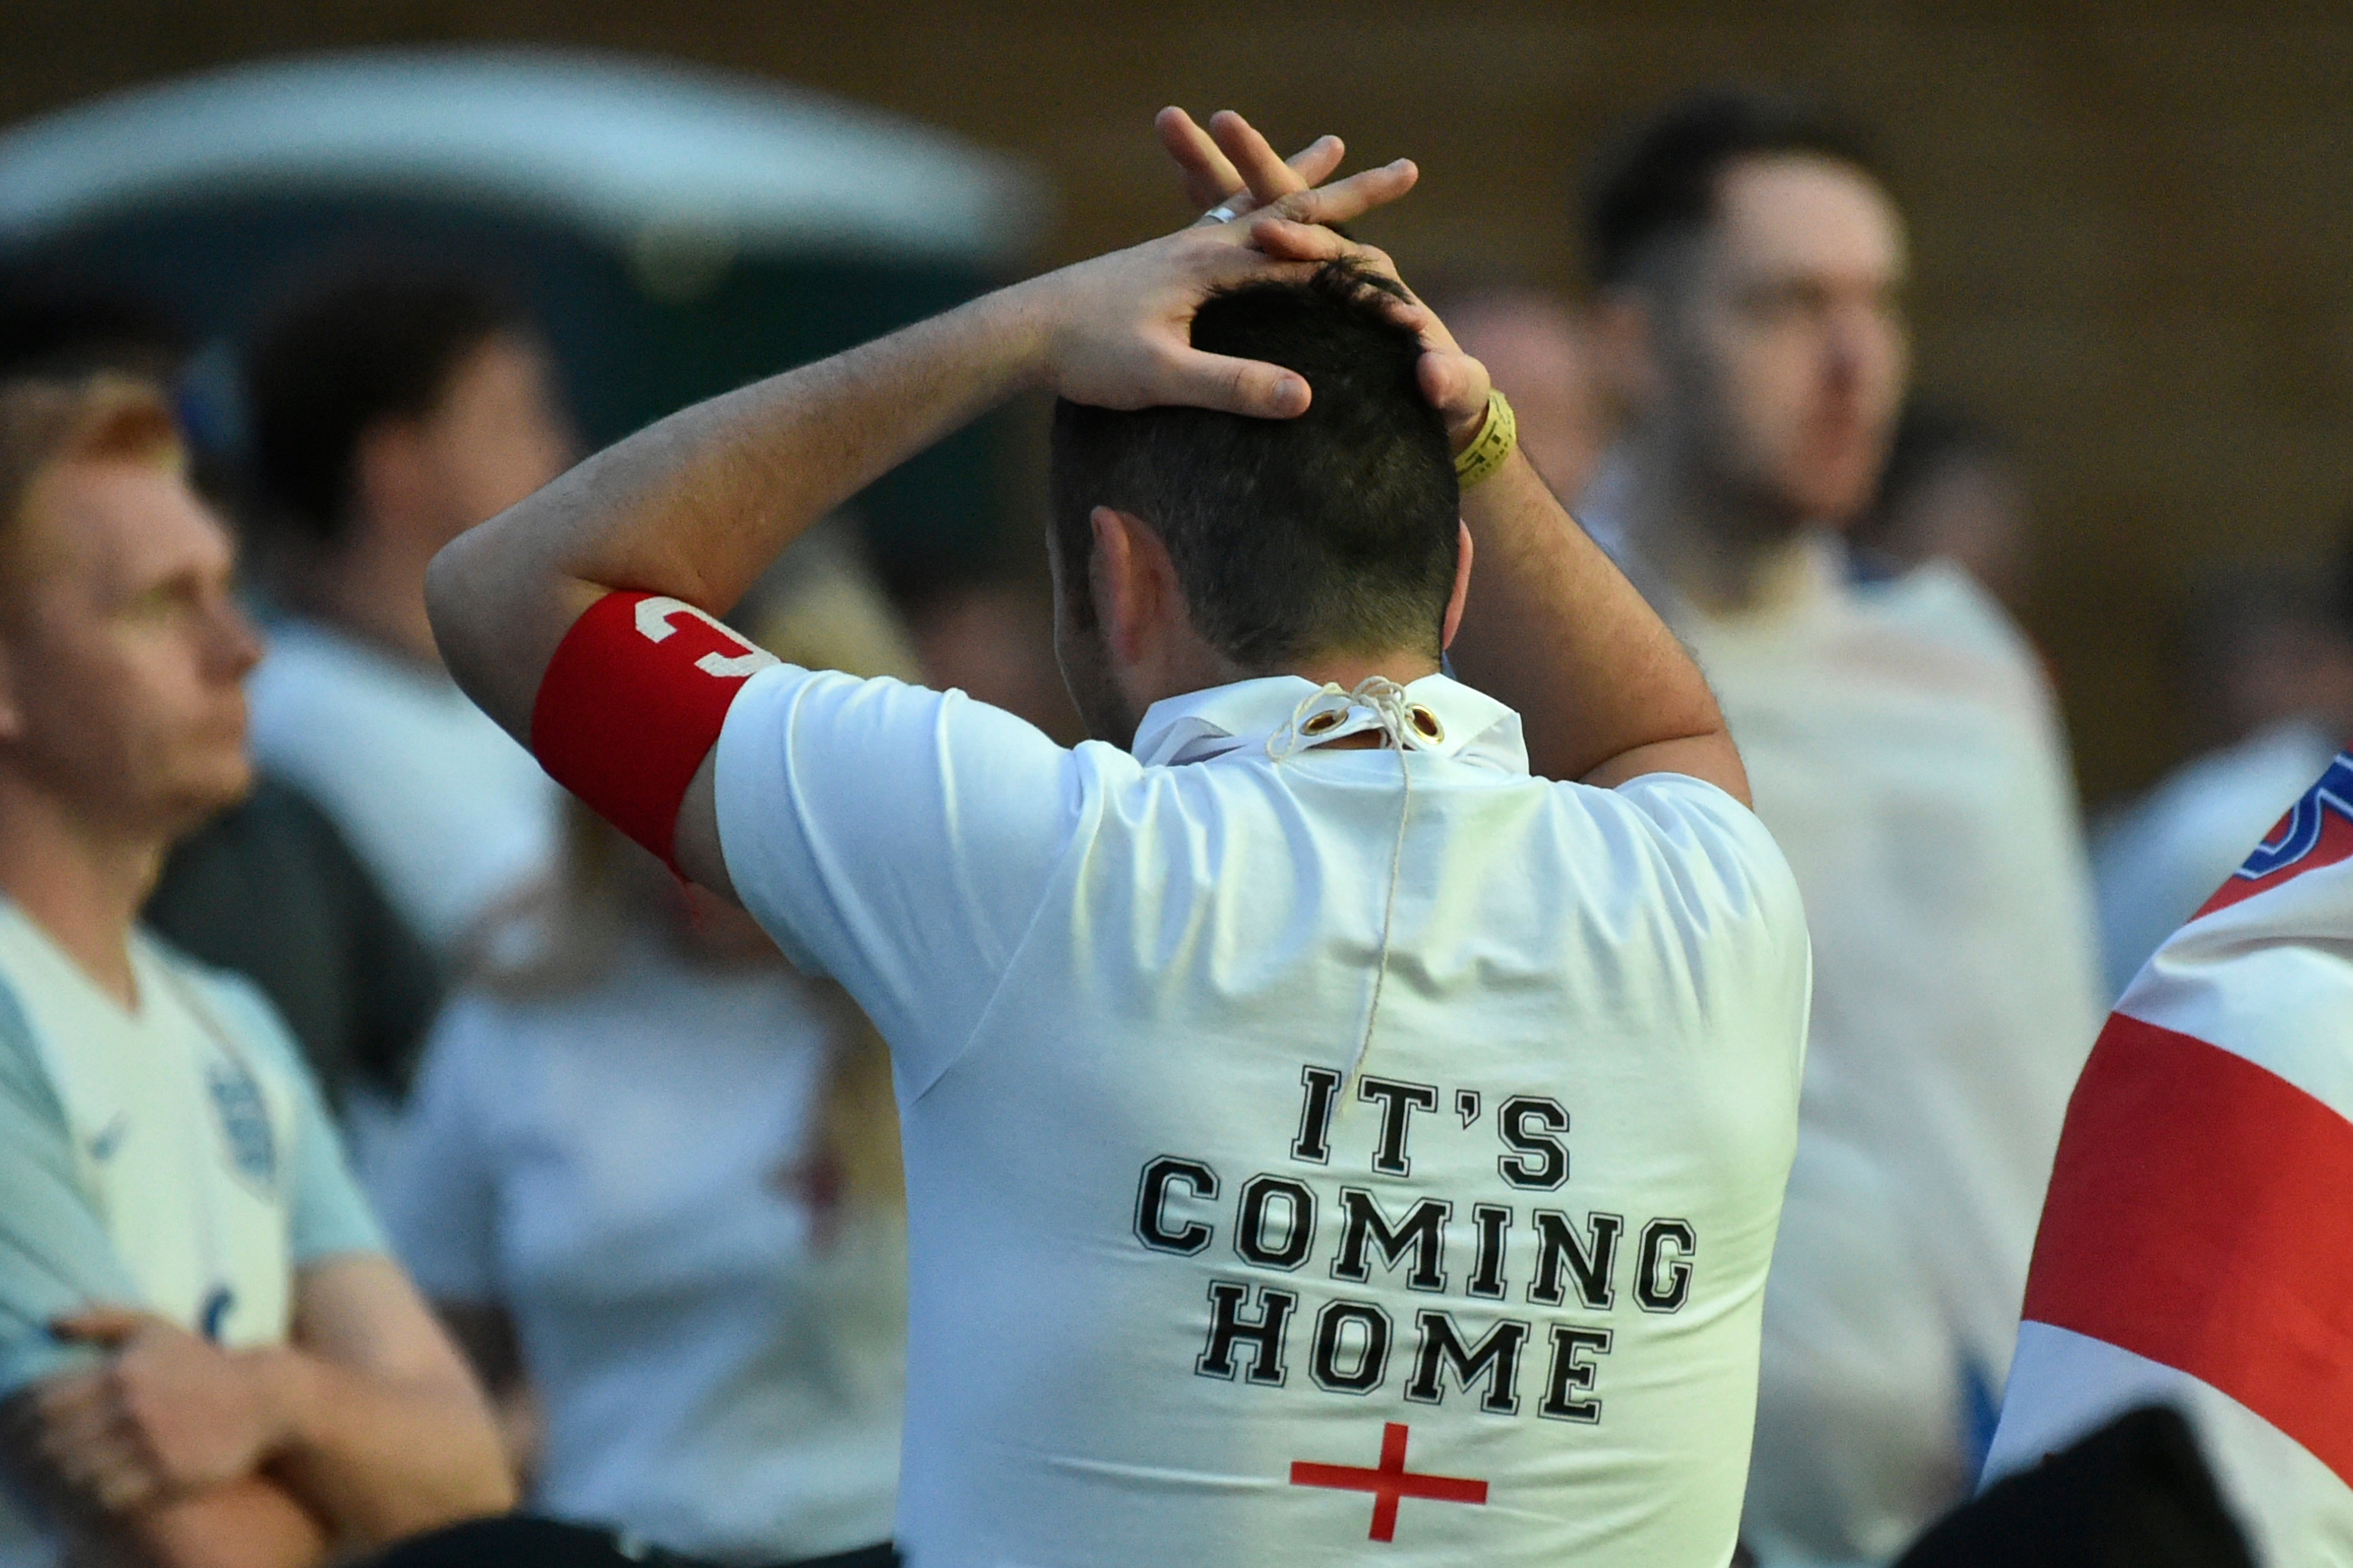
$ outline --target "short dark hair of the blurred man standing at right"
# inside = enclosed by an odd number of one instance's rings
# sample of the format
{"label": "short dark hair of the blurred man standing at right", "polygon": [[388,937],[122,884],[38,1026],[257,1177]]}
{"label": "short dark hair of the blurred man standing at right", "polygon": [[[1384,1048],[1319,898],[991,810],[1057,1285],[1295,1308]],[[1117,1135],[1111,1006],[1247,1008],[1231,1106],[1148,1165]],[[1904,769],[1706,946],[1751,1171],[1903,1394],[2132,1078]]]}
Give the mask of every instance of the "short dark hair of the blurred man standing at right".
{"label": "short dark hair of the blurred man standing at right", "polygon": [[1847,125],[1795,99],[1713,87],[1619,134],[1586,181],[1586,259],[1600,289],[1715,219],[1718,179],[1744,158],[1831,158],[1885,186]]}

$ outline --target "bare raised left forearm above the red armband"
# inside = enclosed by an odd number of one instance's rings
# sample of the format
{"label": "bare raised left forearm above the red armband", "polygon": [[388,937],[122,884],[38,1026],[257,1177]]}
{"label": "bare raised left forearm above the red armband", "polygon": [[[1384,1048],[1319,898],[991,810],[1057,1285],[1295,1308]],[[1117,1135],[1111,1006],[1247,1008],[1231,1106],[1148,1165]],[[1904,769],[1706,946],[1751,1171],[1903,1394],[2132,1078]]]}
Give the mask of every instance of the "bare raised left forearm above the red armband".
{"label": "bare raised left forearm above the red armband", "polygon": [[442,550],[442,658],[527,738],[555,644],[605,590],[729,609],[812,522],[1033,381],[1040,346],[1005,289],[640,430]]}

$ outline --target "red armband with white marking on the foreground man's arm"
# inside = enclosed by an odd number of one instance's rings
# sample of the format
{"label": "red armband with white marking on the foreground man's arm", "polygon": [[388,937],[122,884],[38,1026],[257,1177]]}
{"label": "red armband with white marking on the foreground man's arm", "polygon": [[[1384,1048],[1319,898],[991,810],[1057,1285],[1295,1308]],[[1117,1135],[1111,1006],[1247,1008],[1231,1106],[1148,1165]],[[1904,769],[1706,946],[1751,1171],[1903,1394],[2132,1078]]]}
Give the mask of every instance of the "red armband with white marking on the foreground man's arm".
{"label": "red armband with white marking on the foreground man's arm", "polygon": [[718,745],[736,691],[772,663],[774,654],[685,599],[609,592],[548,661],[532,703],[532,755],[678,870],[678,804]]}

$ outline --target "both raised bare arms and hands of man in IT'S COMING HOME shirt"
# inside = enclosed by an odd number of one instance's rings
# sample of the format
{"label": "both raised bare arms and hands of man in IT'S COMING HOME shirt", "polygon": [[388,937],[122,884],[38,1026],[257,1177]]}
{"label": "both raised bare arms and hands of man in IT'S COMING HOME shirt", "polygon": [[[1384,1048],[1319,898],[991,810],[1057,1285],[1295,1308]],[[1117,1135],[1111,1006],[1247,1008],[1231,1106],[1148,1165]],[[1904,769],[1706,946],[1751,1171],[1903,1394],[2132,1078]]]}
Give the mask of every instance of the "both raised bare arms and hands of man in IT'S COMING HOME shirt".
{"label": "both raised bare arms and hands of man in IT'S COMING HOME shirt", "polygon": [[[1160,122],[1195,200],[1247,197],[1233,223],[1096,256],[1000,289],[864,348],[673,414],[454,541],[426,602],[449,672],[529,743],[539,682],[595,599],[635,590],[727,611],[826,510],[1021,390],[1106,407],[1193,404],[1304,414],[1294,371],[1191,348],[1193,310],[1254,277],[1299,277],[1379,252],[1329,226],[1405,195],[1407,162],[1313,186],[1334,139],[1275,158],[1235,115],[1212,134]],[[1393,273],[1391,273],[1393,275]],[[1457,442],[1478,433],[1487,371],[1426,308],[1424,395]],[[1525,458],[1466,496],[1480,569],[1457,668],[1520,710],[1539,773],[1609,785],[1685,771],[1748,797],[1715,701],[1642,597],[1577,529]],[[678,863],[729,891],[706,757],[678,816]]]}

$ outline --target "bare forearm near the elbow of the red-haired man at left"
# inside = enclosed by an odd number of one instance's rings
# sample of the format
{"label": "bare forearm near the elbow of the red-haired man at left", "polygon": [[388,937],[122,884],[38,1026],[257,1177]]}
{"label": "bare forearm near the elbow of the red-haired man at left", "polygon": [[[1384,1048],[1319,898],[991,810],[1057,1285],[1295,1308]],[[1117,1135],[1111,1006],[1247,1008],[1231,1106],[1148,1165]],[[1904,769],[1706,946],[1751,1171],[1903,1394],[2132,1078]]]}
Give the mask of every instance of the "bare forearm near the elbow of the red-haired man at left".
{"label": "bare forearm near the elbow of the red-haired man at left", "polygon": [[466,1385],[395,1385],[301,1349],[254,1352],[285,1439],[268,1472],[372,1547],[515,1502],[499,1439]]}

